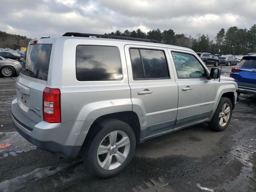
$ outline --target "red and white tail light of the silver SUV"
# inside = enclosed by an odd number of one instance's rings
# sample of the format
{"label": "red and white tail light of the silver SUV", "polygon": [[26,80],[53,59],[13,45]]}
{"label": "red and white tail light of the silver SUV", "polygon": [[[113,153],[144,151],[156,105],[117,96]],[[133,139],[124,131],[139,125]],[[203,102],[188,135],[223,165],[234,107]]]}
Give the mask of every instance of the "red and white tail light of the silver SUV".
{"label": "red and white tail light of the silver SUV", "polygon": [[43,92],[44,121],[60,123],[60,90],[46,87]]}

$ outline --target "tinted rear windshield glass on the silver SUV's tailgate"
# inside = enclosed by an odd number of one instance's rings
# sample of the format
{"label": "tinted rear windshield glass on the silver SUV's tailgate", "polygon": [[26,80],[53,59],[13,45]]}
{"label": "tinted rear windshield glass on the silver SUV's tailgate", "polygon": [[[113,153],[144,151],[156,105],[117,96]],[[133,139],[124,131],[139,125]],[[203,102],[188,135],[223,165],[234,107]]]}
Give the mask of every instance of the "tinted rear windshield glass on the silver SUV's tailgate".
{"label": "tinted rear windshield glass on the silver SUV's tailgate", "polygon": [[29,45],[20,72],[47,81],[51,50],[52,44]]}

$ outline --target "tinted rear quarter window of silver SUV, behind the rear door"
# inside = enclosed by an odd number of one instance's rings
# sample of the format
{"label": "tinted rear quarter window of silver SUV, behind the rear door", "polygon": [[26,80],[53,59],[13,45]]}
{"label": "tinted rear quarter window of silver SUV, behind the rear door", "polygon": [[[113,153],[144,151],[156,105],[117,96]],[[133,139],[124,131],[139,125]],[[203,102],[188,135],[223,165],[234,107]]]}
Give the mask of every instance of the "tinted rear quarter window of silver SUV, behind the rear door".
{"label": "tinted rear quarter window of silver SUV, behind the rear door", "polygon": [[117,47],[78,45],[76,78],[79,81],[122,80],[120,53]]}

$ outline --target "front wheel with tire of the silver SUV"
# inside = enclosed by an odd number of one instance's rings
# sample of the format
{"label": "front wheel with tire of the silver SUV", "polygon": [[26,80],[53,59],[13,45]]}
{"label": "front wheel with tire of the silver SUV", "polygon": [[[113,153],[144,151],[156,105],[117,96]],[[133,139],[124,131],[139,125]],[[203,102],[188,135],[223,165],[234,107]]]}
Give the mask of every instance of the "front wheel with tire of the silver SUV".
{"label": "front wheel with tire of the silver SUV", "polygon": [[222,97],[218,107],[212,117],[212,120],[208,122],[208,126],[214,131],[223,131],[230,123],[232,116],[232,102],[229,98]]}

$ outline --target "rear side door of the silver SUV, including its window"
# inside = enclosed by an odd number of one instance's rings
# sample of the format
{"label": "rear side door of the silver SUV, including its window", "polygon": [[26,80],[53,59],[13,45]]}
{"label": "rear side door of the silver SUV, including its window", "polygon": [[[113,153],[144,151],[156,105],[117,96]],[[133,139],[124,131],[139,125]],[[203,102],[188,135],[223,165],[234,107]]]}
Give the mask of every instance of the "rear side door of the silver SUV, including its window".
{"label": "rear side door of the silver SUV, including its window", "polygon": [[178,85],[166,48],[126,45],[132,110],[138,114],[141,138],[172,132],[177,116]]}

